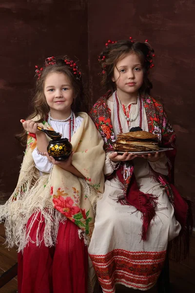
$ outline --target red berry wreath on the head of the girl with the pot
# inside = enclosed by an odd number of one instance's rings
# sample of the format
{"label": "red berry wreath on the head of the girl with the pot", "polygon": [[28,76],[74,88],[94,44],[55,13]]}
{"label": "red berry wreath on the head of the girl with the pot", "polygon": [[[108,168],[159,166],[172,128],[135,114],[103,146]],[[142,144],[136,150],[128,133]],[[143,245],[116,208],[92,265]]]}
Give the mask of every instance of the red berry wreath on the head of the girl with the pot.
{"label": "red berry wreath on the head of the girl with the pot", "polygon": [[[63,56],[62,59],[64,61],[64,65],[67,65],[67,66],[69,66],[71,68],[71,70],[72,70],[74,76],[76,77],[76,79],[80,79],[81,72],[78,70],[77,62],[74,62],[73,60],[68,60],[67,56]],[[56,60],[56,58],[54,56],[48,57],[48,58],[45,59],[45,67],[50,66],[50,65],[54,65],[56,63],[57,63],[57,60]],[[35,69],[35,72],[36,72],[35,76],[37,75],[38,80],[39,80],[39,78],[41,76],[41,72],[43,71],[43,67],[41,67],[39,69],[38,65],[35,65],[35,68],[36,68]]]}

